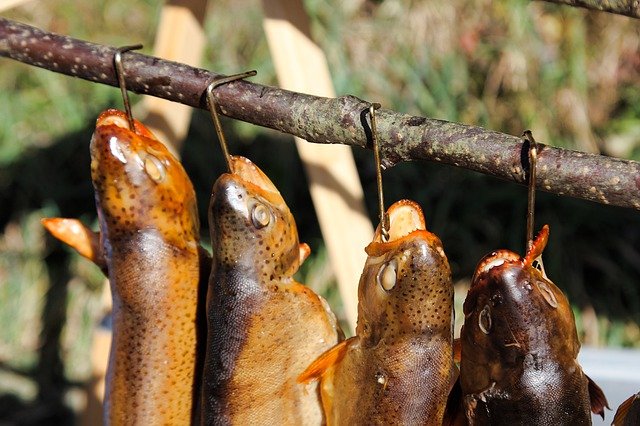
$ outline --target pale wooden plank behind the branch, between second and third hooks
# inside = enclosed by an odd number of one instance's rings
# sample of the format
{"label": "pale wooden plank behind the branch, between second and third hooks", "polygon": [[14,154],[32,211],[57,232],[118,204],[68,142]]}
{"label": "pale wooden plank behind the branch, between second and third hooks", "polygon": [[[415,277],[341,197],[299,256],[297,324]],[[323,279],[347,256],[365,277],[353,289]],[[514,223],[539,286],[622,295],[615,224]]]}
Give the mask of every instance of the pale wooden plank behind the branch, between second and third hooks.
{"label": "pale wooden plank behind the branch, between second and third hooks", "polygon": [[[327,60],[311,39],[300,0],[263,0],[264,29],[280,85],[318,96],[335,96]],[[364,137],[364,135],[363,135]],[[296,138],[347,320],[357,319],[357,288],[373,229],[349,147],[316,145]]]}

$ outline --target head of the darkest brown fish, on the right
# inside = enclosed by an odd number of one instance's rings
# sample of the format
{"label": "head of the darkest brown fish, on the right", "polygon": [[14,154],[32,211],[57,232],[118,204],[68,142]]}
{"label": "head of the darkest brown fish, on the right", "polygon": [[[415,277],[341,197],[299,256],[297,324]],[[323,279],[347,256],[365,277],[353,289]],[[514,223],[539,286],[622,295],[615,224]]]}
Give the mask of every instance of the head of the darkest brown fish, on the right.
{"label": "head of the darkest brown fish, on the right", "polygon": [[[501,366],[522,365],[523,357],[575,359],[580,344],[569,301],[536,261],[548,235],[545,225],[524,258],[499,250],[480,261],[463,307],[463,359]],[[465,343],[473,350],[464,352]]]}

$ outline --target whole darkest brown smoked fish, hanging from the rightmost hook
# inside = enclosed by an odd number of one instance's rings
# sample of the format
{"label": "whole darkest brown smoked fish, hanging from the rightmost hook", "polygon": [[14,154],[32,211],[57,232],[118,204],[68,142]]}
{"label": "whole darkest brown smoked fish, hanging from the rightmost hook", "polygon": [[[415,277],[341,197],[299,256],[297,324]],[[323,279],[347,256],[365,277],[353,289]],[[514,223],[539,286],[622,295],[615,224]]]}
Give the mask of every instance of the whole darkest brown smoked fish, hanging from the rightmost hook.
{"label": "whole darkest brown smoked fish, hanging from the rightmost hook", "polygon": [[524,258],[498,250],[478,264],[460,332],[462,410],[471,425],[591,424],[602,390],[577,361],[567,297],[546,276],[543,226]]}

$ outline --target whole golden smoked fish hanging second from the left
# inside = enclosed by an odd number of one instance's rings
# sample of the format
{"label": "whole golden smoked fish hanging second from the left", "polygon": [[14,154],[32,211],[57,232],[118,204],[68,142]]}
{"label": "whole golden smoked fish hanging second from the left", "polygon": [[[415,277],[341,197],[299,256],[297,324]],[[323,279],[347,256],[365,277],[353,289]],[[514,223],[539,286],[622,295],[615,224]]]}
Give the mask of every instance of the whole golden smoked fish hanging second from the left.
{"label": "whole golden smoked fish hanging second from the left", "polygon": [[280,192],[244,157],[230,169],[208,212],[202,424],[322,424],[317,385],[296,378],[342,331],[327,302],[293,278],[310,249]]}

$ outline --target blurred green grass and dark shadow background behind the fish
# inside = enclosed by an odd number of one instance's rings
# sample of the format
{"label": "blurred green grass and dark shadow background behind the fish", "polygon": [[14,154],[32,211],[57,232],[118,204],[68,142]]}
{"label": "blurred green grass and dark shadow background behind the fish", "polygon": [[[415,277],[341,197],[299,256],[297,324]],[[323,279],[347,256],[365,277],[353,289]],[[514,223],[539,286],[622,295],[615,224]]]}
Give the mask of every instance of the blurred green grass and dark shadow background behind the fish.
{"label": "blurred green grass and dark shadow background behind the fish", "polygon": [[[640,160],[637,21],[524,0],[305,3],[338,94],[513,135],[531,129],[550,145]],[[107,45],[141,42],[149,53],[160,7],[40,0],[2,16]],[[253,81],[276,85],[261,19],[258,1],[211,2],[203,67],[256,69]],[[47,237],[39,219],[62,215],[95,226],[88,143],[98,113],[122,103],[115,88],[7,59],[0,59],[0,92],[0,423],[71,424],[90,373],[103,279]],[[224,125],[231,151],[273,179],[311,245],[301,279],[341,315],[292,138]],[[205,240],[210,188],[224,170],[215,147],[208,115],[195,111],[182,159]],[[354,154],[375,223],[372,154]],[[423,206],[447,251],[459,304],[484,254],[524,247],[524,187],[429,163],[398,165],[384,184],[387,205],[412,198]],[[583,342],[640,346],[638,213],[539,193],[536,222],[551,227],[545,266],[572,301]]]}

